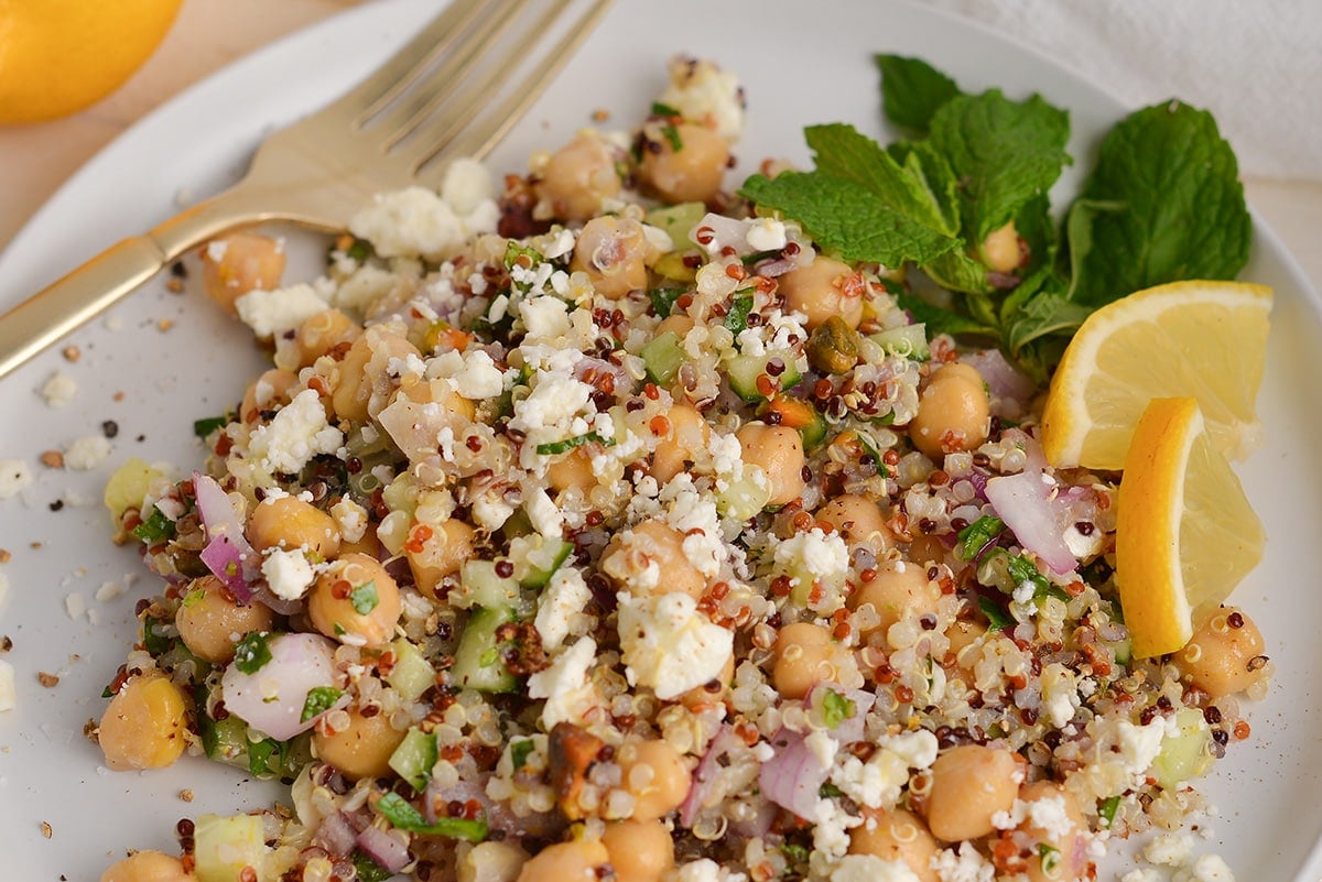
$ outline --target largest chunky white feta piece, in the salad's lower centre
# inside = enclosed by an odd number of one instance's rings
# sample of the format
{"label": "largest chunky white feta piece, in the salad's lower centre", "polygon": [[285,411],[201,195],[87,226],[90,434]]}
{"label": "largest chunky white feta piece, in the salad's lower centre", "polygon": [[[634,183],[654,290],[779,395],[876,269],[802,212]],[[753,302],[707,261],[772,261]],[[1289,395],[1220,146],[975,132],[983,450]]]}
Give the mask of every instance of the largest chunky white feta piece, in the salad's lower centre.
{"label": "largest chunky white feta piece, in the salad's lower centre", "polygon": [[687,594],[621,593],[620,650],[629,683],[669,700],[720,675],[734,634],[698,613],[698,601]]}

